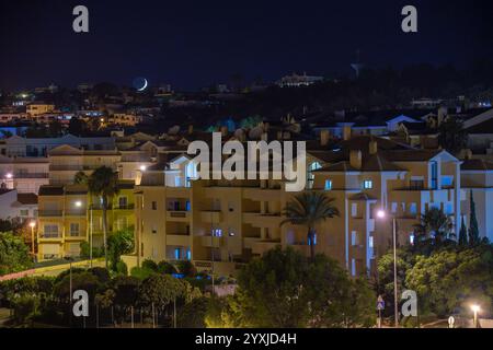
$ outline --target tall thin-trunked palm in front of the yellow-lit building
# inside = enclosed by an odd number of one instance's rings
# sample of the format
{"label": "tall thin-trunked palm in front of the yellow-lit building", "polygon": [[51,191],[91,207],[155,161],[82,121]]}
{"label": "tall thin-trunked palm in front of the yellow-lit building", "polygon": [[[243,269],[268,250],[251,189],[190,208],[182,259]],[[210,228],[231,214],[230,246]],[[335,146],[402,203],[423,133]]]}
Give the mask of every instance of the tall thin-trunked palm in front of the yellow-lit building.
{"label": "tall thin-trunked palm in front of the yellow-lit building", "polygon": [[104,260],[107,268],[107,209],[110,200],[118,194],[118,174],[111,167],[96,168],[88,179],[89,192],[100,197],[103,210]]}

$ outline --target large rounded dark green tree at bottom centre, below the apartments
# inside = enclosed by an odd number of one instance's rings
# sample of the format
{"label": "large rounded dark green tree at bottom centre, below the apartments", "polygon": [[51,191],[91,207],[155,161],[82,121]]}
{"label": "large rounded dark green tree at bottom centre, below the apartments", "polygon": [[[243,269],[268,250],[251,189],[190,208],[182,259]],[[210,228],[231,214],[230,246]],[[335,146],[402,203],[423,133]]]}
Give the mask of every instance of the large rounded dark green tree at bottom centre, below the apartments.
{"label": "large rounded dark green tree at bottom centre, below the apartments", "polygon": [[220,312],[211,306],[208,325],[353,327],[368,325],[374,315],[367,282],[353,281],[322,255],[310,262],[291,248],[276,248],[251,261],[238,282],[236,295],[219,301],[226,302]]}

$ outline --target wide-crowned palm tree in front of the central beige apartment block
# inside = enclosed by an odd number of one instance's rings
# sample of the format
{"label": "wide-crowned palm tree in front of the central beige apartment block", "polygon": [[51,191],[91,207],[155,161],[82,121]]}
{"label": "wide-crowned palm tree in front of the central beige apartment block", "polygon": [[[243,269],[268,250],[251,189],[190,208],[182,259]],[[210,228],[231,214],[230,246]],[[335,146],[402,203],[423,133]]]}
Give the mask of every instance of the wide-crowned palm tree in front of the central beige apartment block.
{"label": "wide-crowned palm tree in front of the central beige apartment block", "polygon": [[316,226],[326,219],[339,217],[339,209],[333,205],[334,199],[322,192],[303,192],[295,196],[294,200],[286,205],[284,214],[287,217],[280,225],[305,225],[308,229],[308,242],[310,243],[310,257],[314,259]]}

